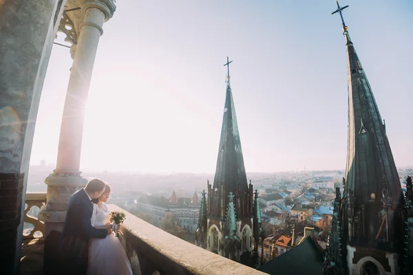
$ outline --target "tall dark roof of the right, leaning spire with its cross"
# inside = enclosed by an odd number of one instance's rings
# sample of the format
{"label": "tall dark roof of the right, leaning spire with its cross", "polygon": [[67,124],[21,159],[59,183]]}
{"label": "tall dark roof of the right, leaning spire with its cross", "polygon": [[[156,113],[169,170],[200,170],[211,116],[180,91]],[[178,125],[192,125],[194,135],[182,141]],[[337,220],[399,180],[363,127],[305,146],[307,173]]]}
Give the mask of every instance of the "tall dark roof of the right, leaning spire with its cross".
{"label": "tall dark roof of the right, leaning spire with its cross", "polygon": [[[340,14],[341,10],[339,8]],[[353,194],[359,203],[367,203],[372,193],[379,198],[384,188],[383,179],[386,179],[396,203],[401,186],[385,126],[348,27],[343,19],[342,22],[348,65],[348,151],[344,193]]]}

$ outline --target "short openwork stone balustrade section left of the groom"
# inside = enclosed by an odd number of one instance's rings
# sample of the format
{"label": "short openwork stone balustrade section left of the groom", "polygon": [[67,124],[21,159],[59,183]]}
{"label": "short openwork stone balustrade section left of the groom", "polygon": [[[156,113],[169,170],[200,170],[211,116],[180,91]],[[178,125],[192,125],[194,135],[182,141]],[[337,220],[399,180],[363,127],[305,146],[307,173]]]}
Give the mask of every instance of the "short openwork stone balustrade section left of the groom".
{"label": "short openwork stone balustrade section left of the groom", "polygon": [[[23,240],[40,238],[45,234],[45,223],[37,219],[41,206],[46,203],[46,192],[26,193]],[[33,226],[28,226],[30,223]]]}

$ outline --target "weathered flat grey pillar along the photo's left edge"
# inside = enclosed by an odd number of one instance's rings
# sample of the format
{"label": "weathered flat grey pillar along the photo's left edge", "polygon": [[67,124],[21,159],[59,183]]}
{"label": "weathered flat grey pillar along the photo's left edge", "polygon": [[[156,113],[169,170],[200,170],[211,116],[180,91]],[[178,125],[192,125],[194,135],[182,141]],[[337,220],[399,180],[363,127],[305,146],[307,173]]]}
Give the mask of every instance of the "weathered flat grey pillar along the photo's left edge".
{"label": "weathered flat grey pillar along the photo's left edge", "polygon": [[65,0],[0,1],[1,274],[19,274],[34,126],[64,5]]}

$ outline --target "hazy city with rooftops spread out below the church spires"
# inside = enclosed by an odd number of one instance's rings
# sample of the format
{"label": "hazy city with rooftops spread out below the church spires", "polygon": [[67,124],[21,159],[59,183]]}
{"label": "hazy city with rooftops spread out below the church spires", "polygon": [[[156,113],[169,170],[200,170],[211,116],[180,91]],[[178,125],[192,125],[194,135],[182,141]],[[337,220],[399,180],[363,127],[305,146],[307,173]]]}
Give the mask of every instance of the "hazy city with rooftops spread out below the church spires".
{"label": "hazy city with rooftops spread out below the church spires", "polygon": [[[30,166],[27,192],[45,192],[47,186],[42,181],[49,175],[51,168],[53,166],[47,165],[45,161]],[[405,191],[406,178],[413,175],[413,166],[397,168],[397,172],[401,188]],[[162,175],[105,171],[88,173],[87,170],[83,175],[107,181],[113,190],[109,203],[124,208],[158,228],[162,228],[162,219],[171,213],[176,226],[169,233],[190,243],[195,241],[202,190],[207,179],[214,177],[213,173]],[[326,249],[335,188],[339,187],[343,192],[344,169],[246,175],[260,196],[262,228],[266,236],[263,263],[298,245],[306,227],[315,228],[317,243]],[[33,210],[35,215],[39,208]],[[30,230],[32,225],[27,224],[26,227]],[[280,244],[277,243],[278,239],[284,241]],[[261,246],[258,251],[261,253]]]}

